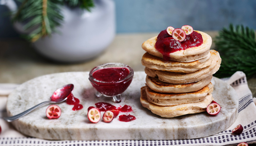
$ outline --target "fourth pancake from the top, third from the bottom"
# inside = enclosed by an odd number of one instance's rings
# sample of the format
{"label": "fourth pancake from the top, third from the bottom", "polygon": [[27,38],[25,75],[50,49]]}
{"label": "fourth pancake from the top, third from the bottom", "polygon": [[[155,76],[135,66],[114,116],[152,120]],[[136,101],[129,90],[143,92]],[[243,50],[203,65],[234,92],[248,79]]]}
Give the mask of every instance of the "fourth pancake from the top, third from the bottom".
{"label": "fourth pancake from the top, third from the bottom", "polygon": [[146,83],[150,89],[161,92],[161,93],[186,93],[186,92],[193,92],[198,91],[208,85],[213,78],[213,75],[208,76],[207,78],[203,78],[198,82],[193,83],[166,83],[160,81],[158,78],[152,78],[147,76]]}

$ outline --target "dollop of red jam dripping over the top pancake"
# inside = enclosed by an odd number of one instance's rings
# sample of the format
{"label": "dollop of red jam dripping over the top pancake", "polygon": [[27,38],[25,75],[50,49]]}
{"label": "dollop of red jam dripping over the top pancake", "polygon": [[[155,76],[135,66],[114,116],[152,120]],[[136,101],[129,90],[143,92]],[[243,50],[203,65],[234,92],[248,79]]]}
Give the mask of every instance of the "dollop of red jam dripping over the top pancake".
{"label": "dollop of red jam dripping over the top pancake", "polygon": [[170,53],[186,50],[190,47],[198,47],[203,44],[203,37],[200,33],[193,31],[191,34],[186,35],[184,41],[180,42],[171,37],[166,30],[161,31],[157,36],[155,48],[162,55],[165,61],[170,59]]}

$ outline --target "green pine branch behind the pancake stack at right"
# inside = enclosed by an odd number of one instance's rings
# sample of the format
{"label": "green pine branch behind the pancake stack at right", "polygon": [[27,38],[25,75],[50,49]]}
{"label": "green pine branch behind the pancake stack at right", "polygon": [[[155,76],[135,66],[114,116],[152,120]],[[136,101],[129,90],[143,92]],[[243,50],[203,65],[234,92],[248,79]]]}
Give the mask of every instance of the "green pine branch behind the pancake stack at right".
{"label": "green pine branch behind the pancake stack at right", "polygon": [[216,37],[216,49],[222,58],[218,78],[229,77],[236,71],[243,71],[248,78],[256,75],[256,37],[255,31],[243,25],[229,25]]}

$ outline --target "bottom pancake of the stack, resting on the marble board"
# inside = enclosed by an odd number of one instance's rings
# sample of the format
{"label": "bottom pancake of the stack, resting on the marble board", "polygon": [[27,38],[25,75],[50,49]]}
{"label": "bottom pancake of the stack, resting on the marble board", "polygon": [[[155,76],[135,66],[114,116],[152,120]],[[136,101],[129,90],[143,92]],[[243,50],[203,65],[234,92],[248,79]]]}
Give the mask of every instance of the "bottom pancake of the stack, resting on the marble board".
{"label": "bottom pancake of the stack, resting on the marble board", "polygon": [[208,94],[203,101],[192,104],[180,104],[174,106],[160,106],[150,103],[147,99],[145,86],[141,88],[140,103],[144,108],[161,117],[172,118],[181,115],[195,114],[206,111],[207,106],[212,102],[212,94]]}

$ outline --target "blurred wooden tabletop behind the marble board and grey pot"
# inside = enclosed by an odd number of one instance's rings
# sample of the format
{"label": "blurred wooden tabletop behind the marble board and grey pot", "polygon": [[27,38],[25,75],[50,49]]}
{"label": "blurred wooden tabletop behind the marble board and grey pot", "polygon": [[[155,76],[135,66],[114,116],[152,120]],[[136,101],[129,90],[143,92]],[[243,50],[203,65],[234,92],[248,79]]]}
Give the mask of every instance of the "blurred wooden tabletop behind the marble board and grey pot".
{"label": "blurred wooden tabletop behind the marble board and grey pot", "polygon": [[[217,31],[205,31],[213,40]],[[141,45],[158,33],[117,34],[112,44],[98,57],[82,63],[56,63],[37,53],[32,44],[22,39],[0,40],[0,83],[23,83],[29,79],[50,73],[84,72],[110,62],[129,65],[134,71],[144,71]],[[211,47],[215,47],[214,43]],[[256,78],[248,80],[253,97],[256,97]]]}

